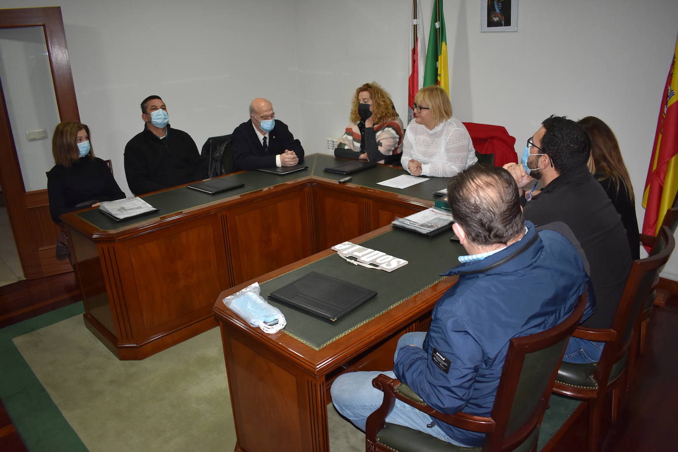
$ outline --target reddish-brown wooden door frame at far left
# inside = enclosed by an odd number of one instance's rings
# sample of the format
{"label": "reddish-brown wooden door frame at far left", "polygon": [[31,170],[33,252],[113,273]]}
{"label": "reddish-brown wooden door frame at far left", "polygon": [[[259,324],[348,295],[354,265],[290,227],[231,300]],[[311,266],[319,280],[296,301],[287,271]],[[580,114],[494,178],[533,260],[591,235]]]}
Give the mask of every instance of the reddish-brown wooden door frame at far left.
{"label": "reddish-brown wooden door frame at far left", "polygon": [[[43,27],[60,121],[79,122],[80,115],[75,99],[75,85],[73,85],[73,75],[71,74],[71,60],[68,58],[68,47],[66,47],[66,33],[61,17],[61,7],[0,9],[0,28],[25,26]],[[1,83],[0,159],[3,161],[3,164],[0,165],[0,183],[5,195],[9,223],[14,233],[14,241],[20,255],[24,276],[26,276],[26,279],[45,276],[37,250],[33,245],[32,231],[26,227],[30,222],[27,210],[27,193],[16,154],[12,125],[9,122]],[[29,193],[35,194],[36,192]],[[41,197],[45,197],[45,194],[41,193]]]}

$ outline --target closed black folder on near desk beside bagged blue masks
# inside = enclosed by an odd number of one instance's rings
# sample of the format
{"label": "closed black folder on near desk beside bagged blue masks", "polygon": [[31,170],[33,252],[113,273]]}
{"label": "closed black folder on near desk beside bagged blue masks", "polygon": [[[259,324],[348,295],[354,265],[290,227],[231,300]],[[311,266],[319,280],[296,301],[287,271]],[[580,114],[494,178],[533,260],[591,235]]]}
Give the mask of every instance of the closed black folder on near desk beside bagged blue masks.
{"label": "closed black folder on near desk beside bagged blue masks", "polygon": [[326,274],[308,272],[268,296],[334,322],[376,294],[376,291]]}

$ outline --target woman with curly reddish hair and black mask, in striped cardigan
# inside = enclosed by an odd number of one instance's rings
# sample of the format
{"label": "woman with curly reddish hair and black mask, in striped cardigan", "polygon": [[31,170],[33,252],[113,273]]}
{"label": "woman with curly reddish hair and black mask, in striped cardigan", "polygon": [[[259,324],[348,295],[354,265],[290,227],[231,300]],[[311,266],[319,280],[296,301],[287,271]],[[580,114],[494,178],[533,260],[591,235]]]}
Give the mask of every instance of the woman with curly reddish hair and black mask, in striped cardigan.
{"label": "woman with curly reddish hair and black mask, in striped cardigan", "polygon": [[403,122],[382,87],[375,82],[358,87],[349,120],[336,157],[400,165]]}

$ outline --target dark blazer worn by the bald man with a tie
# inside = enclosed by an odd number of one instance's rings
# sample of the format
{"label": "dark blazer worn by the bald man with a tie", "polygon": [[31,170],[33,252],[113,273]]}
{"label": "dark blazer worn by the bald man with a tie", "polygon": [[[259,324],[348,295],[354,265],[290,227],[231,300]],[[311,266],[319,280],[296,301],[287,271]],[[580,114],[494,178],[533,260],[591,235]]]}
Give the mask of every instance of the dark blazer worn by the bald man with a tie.
{"label": "dark blazer worn by the bald man with a tie", "polygon": [[268,150],[264,152],[264,147],[254,131],[254,126],[252,126],[252,119],[235,128],[231,135],[231,146],[233,147],[236,171],[273,168],[275,167],[275,156],[285,152],[285,149],[294,150],[299,158],[299,163],[304,161],[304,148],[302,148],[299,140],[294,139],[290,129],[283,121],[276,119],[275,127],[268,132],[267,137]]}

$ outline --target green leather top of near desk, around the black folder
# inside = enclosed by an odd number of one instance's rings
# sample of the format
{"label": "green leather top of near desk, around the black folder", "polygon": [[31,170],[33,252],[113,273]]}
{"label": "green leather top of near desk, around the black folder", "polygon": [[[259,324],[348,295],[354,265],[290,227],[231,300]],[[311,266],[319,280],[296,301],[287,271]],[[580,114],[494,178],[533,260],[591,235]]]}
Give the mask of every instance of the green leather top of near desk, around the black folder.
{"label": "green leather top of near desk, around the black folder", "polygon": [[[449,233],[445,232],[433,239],[403,230],[390,230],[360,245],[403,258],[409,262],[407,265],[393,272],[384,272],[353,265],[333,254],[275,279],[259,281],[261,295],[285,314],[285,333],[318,350],[440,281],[441,273],[458,266],[457,257],[466,254],[466,251],[458,242],[450,241],[451,236],[452,228]],[[268,293],[312,270],[378,291],[378,295],[335,322],[268,298]]]}

